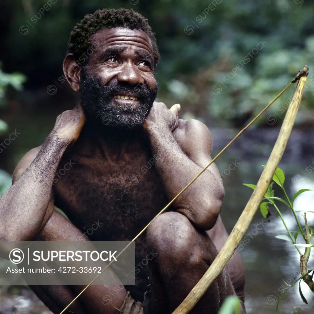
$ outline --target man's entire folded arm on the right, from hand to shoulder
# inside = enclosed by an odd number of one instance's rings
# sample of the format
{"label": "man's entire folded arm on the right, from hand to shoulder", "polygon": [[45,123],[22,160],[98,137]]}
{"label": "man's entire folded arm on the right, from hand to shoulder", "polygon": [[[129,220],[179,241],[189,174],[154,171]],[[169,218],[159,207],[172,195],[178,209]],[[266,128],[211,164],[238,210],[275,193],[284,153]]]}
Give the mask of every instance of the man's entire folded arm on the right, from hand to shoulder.
{"label": "man's entire folded arm on the right, from hand to shoulder", "polygon": [[[212,160],[212,136],[207,126],[197,120],[178,120],[179,108],[174,105],[168,110],[165,104],[154,103],[145,122],[152,155],[158,155],[155,167],[169,200]],[[212,164],[172,203],[171,209],[185,215],[197,228],[210,230],[223,197],[222,180]]]}

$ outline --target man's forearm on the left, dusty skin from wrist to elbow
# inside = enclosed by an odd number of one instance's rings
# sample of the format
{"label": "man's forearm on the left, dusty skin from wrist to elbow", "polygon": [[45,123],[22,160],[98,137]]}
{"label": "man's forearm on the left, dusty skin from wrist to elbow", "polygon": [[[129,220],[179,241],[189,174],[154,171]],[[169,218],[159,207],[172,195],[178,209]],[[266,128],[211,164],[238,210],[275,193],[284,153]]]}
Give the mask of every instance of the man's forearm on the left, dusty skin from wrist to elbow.
{"label": "man's forearm on the left, dusty skin from wrist to elbow", "polygon": [[40,231],[52,201],[52,181],[67,144],[60,137],[49,135],[33,162],[2,195],[0,240],[31,240]]}

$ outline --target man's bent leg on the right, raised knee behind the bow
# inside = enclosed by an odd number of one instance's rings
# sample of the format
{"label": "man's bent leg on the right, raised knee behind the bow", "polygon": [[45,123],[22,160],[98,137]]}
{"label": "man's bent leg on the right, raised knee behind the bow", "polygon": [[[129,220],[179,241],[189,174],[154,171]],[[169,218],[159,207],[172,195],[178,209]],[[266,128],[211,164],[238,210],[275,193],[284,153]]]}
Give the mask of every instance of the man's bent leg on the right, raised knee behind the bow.
{"label": "man's bent leg on the right, raised knee behind the bow", "polygon": [[[147,243],[157,253],[149,262],[149,314],[172,313],[207,271],[217,249],[206,232],[196,230],[177,212],[163,213],[153,220]],[[228,295],[234,295],[234,289],[224,270],[190,313],[215,314]]]}

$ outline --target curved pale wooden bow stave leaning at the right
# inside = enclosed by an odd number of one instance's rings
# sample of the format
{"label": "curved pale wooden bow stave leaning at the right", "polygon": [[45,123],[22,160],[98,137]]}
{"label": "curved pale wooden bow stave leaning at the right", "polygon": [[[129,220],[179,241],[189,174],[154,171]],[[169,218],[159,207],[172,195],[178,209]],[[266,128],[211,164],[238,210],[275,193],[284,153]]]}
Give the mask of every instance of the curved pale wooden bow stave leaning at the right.
{"label": "curved pale wooden bow stave leaning at the right", "polygon": [[173,314],[185,314],[189,313],[191,309],[196,305],[198,300],[204,295],[212,282],[222,272],[223,268],[227,265],[230,258],[233,256],[237,246],[241,239],[245,235],[246,230],[252,222],[252,219],[259,208],[259,205],[264,198],[267,188],[272,181],[275,170],[281,160],[284,150],[287,146],[292,127],[294,125],[295,116],[298,112],[302,94],[304,91],[306,77],[308,75],[309,68],[305,66],[303,70],[299,71],[298,75],[292,80],[291,83],[296,82],[299,79],[299,83],[295,89],[290,106],[284,117],[284,122],[280,128],[280,132],[276,143],[273,147],[272,153],[269,156],[266,167],[262,172],[260,179],[257,182],[256,188],[253,191],[251,198],[246,204],[240,218],[231,231],[226,243],[222,247],[221,251],[213,261],[212,265],[207,269],[206,273],[200,279],[200,281],[194,286],[191,292],[183,300],[183,302],[175,309]]}

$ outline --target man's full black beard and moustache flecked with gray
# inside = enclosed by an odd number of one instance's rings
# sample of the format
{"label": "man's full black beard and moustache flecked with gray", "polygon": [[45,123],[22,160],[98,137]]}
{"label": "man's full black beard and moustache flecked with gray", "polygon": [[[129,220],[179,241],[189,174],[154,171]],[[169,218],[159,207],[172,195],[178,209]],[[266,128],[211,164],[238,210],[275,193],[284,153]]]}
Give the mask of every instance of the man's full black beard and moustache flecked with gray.
{"label": "man's full black beard and moustache flecked with gray", "polygon": [[[143,124],[157,97],[158,84],[154,89],[146,84],[133,86],[117,79],[103,84],[100,78],[88,75],[84,68],[81,73],[80,96],[87,120],[129,130]],[[117,104],[113,98],[118,92],[138,95],[139,105]]]}

